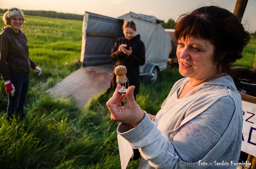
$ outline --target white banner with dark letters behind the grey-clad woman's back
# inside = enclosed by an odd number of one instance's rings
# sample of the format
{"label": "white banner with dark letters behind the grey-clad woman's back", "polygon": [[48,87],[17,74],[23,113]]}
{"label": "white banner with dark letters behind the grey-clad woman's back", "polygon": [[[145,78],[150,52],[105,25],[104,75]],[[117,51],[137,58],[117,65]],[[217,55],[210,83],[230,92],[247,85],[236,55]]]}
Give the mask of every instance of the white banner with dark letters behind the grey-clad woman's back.
{"label": "white banner with dark letters behind the grey-clad woman's back", "polygon": [[256,104],[242,100],[243,141],[241,151],[256,156]]}

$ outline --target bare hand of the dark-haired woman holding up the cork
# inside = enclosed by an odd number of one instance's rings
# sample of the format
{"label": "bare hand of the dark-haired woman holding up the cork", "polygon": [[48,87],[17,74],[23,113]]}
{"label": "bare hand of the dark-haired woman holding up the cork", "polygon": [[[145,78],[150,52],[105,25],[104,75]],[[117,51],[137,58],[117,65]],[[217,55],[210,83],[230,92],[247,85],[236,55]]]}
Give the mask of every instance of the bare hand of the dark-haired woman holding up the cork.
{"label": "bare hand of the dark-haired woman holding up the cork", "polygon": [[[107,107],[111,113],[110,119],[112,121],[118,121],[132,126],[137,126],[143,119],[144,112],[136,103],[133,95],[135,86],[128,87],[126,94],[118,93],[118,88],[115,90],[113,96],[107,101]],[[126,97],[127,103],[124,107],[121,106],[121,102]]]}

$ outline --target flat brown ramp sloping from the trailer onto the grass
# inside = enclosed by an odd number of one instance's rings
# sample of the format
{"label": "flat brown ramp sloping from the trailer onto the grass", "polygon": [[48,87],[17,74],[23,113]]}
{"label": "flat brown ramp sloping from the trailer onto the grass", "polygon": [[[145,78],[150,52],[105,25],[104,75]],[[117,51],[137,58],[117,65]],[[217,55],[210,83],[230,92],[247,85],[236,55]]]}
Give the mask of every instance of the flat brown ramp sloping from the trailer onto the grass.
{"label": "flat brown ramp sloping from the trailer onto the grass", "polygon": [[83,108],[89,99],[104,92],[110,86],[112,64],[82,67],[71,73],[46,92],[57,97],[72,97]]}

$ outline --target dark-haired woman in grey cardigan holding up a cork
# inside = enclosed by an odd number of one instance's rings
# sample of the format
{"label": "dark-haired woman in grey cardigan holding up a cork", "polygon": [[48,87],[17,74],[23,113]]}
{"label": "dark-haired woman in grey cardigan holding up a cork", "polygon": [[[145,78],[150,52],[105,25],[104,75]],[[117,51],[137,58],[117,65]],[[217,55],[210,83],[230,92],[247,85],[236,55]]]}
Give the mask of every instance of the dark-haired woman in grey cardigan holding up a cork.
{"label": "dark-haired woman in grey cardigan holding up a cork", "polygon": [[[130,86],[107,102],[118,134],[142,158],[139,168],[236,168],[242,140],[241,96],[228,75],[249,34],[215,6],[183,14],[175,26],[177,81],[156,116],[141,110]],[[127,103],[120,103],[127,98]]]}

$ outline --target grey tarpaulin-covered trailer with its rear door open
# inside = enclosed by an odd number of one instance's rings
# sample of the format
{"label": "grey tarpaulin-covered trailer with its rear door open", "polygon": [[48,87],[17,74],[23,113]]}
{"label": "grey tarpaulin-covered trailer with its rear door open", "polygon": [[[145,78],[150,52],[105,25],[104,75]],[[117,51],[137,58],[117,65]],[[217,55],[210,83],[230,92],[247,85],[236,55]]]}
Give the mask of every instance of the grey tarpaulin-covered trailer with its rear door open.
{"label": "grey tarpaulin-covered trailer with its rear door open", "polygon": [[140,76],[145,81],[155,81],[158,73],[167,68],[171,37],[161,26],[162,20],[154,16],[129,12],[118,18],[112,18],[85,11],[82,28],[82,67],[115,64],[110,51],[117,38],[123,36],[122,25],[134,21],[136,34],[140,34],[145,44],[146,60],[140,66]]}

